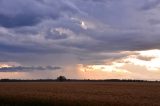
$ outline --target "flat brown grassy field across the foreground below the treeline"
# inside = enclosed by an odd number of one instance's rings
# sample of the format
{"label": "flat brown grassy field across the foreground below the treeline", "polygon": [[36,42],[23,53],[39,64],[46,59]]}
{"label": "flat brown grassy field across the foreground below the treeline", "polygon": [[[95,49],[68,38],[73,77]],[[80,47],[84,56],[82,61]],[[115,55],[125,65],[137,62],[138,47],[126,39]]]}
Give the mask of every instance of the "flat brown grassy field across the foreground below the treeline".
{"label": "flat brown grassy field across the foreground below the treeline", "polygon": [[0,106],[160,106],[160,83],[1,82]]}

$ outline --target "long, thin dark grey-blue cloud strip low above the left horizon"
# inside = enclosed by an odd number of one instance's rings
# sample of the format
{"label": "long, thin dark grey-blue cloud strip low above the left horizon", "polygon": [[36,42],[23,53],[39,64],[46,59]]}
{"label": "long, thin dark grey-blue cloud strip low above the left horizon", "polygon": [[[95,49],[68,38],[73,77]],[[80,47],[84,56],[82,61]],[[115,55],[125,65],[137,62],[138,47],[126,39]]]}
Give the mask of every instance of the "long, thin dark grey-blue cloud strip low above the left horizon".
{"label": "long, thin dark grey-blue cloud strip low above the left horizon", "polygon": [[53,66],[31,66],[31,67],[25,67],[25,66],[13,66],[13,67],[2,67],[0,68],[0,72],[32,72],[32,71],[53,71],[53,70],[59,70],[61,67],[53,67]]}

